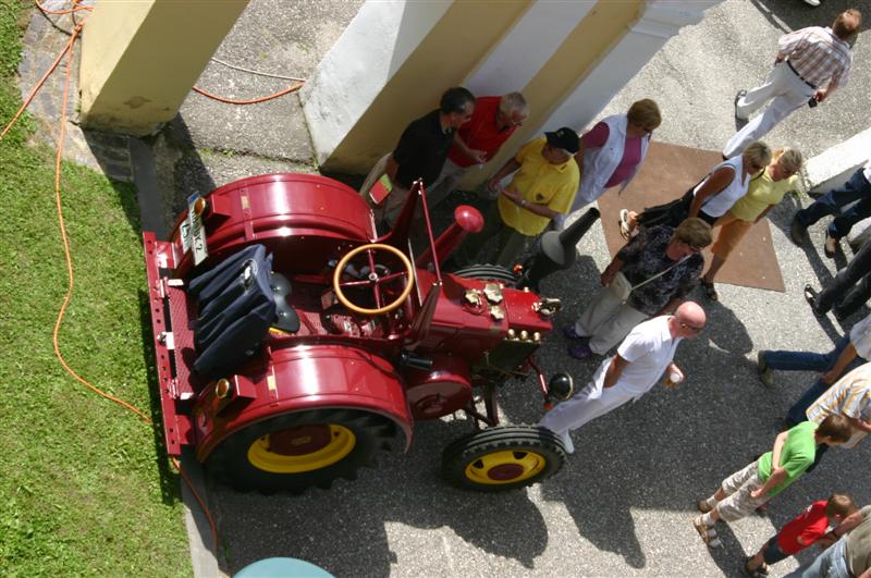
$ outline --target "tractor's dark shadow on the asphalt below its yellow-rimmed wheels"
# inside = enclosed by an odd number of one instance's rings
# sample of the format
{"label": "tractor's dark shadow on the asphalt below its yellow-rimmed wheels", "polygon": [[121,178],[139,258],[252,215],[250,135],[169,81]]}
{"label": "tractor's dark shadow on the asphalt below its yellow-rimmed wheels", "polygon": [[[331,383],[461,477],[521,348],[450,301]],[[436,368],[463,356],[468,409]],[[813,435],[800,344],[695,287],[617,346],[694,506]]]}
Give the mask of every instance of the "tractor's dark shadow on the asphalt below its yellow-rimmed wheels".
{"label": "tractor's dark shadow on the asphalt below its yellow-rimmed wheels", "polygon": [[[465,542],[532,568],[547,548],[548,530],[525,491],[466,492],[440,478],[442,448],[468,431],[464,420],[417,423],[408,454],[383,454],[378,471],[360,470],[357,481],[340,480],[328,491],[265,496],[212,488],[224,543],[223,569],[234,573],[262,557],[294,556],[334,576],[387,576],[397,563],[391,543],[410,536],[404,526],[447,526]],[[450,559],[447,544],[439,539],[415,546],[421,568],[425,559]],[[414,574],[415,561],[402,564]],[[453,574],[450,566],[445,571]]]}

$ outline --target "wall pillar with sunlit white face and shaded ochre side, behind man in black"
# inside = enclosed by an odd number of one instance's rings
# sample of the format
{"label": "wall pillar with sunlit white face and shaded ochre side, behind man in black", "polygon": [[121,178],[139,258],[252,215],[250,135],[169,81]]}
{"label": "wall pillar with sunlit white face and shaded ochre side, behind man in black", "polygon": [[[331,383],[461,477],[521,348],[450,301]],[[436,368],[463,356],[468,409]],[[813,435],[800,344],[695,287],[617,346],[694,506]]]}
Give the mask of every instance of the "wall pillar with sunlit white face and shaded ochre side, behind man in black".
{"label": "wall pillar with sunlit white face and shaded ochre side, behind man in black", "polygon": [[409,121],[466,79],[530,4],[367,2],[302,94],[318,161],[334,171],[368,171]]}

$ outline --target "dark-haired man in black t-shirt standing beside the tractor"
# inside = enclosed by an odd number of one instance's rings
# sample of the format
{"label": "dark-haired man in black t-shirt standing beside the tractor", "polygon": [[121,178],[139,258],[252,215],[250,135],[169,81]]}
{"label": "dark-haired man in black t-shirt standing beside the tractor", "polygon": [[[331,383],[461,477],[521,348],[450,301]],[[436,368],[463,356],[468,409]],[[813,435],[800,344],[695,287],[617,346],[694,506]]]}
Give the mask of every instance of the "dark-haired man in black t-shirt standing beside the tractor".
{"label": "dark-haired man in black t-shirt standing beside the tractor", "polygon": [[389,226],[396,222],[415,181],[422,179],[426,186],[439,177],[454,143],[454,131],[471,118],[474,110],[471,93],[463,87],[449,88],[442,95],[439,109],[405,127],[400,143],[387,159],[392,188],[382,214]]}

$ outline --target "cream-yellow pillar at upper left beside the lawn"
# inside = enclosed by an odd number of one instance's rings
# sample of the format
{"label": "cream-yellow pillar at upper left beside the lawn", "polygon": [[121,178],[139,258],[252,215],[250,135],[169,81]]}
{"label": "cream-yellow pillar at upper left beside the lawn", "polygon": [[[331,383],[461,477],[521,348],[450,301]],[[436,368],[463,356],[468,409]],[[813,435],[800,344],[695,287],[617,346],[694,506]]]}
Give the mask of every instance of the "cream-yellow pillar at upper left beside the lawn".
{"label": "cream-yellow pillar at upper left beside the lawn", "polygon": [[82,36],[82,124],[144,135],[171,120],[247,3],[97,2]]}

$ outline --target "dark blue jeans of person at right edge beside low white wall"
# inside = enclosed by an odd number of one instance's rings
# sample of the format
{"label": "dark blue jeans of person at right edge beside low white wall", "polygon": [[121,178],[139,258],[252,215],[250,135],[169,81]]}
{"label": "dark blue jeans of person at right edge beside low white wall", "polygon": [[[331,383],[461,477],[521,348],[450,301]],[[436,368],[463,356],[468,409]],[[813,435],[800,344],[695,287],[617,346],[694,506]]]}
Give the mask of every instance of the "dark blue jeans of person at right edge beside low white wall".
{"label": "dark blue jeans of person at right edge beside low white wall", "polygon": [[805,209],[796,213],[796,219],[808,227],[825,217],[837,213],[842,207],[855,202],[847,208],[829,225],[829,235],[835,238],[847,236],[852,225],[871,216],[871,183],[859,169],[844,186],[833,188]]}

